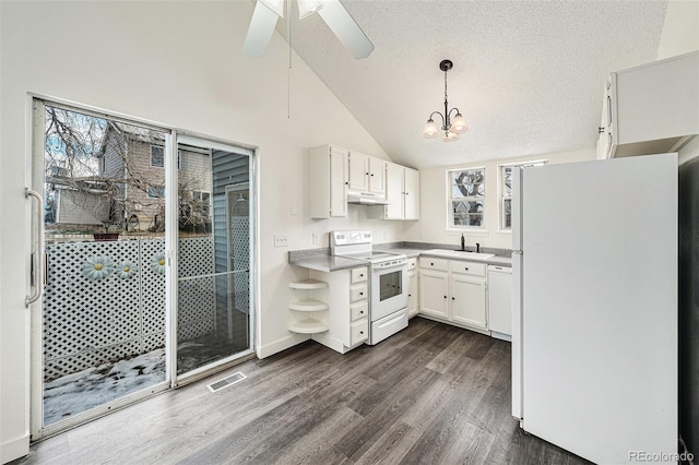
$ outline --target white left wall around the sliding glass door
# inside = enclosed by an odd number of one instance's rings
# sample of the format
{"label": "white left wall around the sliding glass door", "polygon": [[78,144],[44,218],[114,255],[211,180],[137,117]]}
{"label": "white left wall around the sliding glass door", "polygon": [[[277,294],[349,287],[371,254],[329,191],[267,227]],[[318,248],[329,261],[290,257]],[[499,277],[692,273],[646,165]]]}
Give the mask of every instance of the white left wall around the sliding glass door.
{"label": "white left wall around the sliding glass door", "polygon": [[[286,44],[275,36],[260,59],[240,52],[252,8],[248,1],[0,2],[0,208],[13,218],[0,223],[3,463],[28,444],[27,93],[259,147],[262,351],[297,342],[286,330],[287,282],[299,273],[287,264],[288,250],[312,248],[311,233],[334,228],[369,227],[380,241],[401,239],[402,223],[366,220],[358,206],[347,219],[308,219],[307,147],[334,143],[390,158],[297,56],[287,119]],[[288,248],[273,248],[276,233],[288,236]]]}

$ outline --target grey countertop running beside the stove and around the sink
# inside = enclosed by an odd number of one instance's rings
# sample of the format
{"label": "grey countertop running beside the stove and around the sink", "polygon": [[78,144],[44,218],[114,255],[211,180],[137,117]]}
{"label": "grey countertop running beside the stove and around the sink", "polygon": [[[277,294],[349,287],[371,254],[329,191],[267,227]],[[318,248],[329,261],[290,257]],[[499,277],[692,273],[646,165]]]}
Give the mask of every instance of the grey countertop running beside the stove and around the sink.
{"label": "grey countertop running beside the stove and around the sink", "polygon": [[[437,249],[438,247],[433,247]],[[379,249],[377,249],[379,250]],[[405,247],[388,247],[380,248],[380,250],[393,253],[403,253],[408,259],[417,258],[420,254],[426,254],[429,249],[418,248],[405,248]],[[460,260],[458,258],[449,260]],[[463,259],[469,261],[467,259]],[[512,266],[512,258],[510,255],[495,255],[487,260],[477,260],[478,262],[486,263],[488,265],[497,266]],[[357,266],[366,266],[367,263],[362,260],[347,259],[344,257],[334,257],[328,254],[328,249],[311,249],[299,250],[289,252],[288,262],[295,266],[301,266],[308,270],[316,270],[321,272],[334,272],[341,270],[350,270]]]}

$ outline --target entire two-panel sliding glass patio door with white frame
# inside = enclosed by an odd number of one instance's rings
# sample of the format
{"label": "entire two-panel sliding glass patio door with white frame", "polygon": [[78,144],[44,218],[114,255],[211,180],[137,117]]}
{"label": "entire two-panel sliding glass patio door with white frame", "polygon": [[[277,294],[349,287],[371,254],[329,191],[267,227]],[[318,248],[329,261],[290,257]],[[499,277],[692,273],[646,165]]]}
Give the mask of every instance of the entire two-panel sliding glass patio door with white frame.
{"label": "entire two-panel sliding glass patio door with white frame", "polygon": [[33,122],[32,438],[253,354],[253,152],[40,99]]}

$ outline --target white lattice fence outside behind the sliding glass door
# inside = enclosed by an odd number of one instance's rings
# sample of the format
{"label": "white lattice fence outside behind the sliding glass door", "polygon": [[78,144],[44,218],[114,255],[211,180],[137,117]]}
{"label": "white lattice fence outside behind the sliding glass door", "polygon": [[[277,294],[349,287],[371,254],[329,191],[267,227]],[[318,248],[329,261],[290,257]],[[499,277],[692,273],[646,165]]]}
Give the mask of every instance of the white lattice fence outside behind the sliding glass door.
{"label": "white lattice fence outside behind the sliding glass door", "polygon": [[[165,346],[163,251],[162,239],[46,243],[45,381]],[[181,240],[180,278],[213,274],[213,254],[211,237]],[[180,281],[178,301],[179,341],[215,330],[213,278]]]}

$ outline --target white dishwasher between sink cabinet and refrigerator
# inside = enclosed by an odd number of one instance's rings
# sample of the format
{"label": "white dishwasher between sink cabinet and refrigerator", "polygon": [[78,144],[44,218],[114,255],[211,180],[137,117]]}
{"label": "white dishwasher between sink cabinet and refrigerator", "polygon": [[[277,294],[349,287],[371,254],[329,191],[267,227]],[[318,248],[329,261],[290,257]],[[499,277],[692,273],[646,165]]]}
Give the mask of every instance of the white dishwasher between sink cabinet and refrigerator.
{"label": "white dishwasher between sink cabinet and refrigerator", "polygon": [[512,341],[512,269],[488,265],[488,323],[490,335]]}

